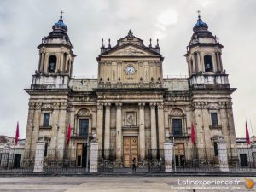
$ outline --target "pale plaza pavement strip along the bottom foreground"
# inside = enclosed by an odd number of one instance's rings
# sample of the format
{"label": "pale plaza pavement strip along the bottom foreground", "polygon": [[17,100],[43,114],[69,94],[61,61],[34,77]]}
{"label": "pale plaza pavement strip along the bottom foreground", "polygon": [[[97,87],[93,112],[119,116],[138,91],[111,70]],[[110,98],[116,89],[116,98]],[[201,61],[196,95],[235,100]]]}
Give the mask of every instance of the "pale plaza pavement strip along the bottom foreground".
{"label": "pale plaza pavement strip along the bottom foreground", "polygon": [[[234,181],[243,177],[190,177],[179,178],[180,180],[228,180]],[[253,178],[256,181],[256,177]],[[180,187],[177,177],[22,177],[0,178],[1,192],[193,192],[193,189],[173,189]],[[182,186],[183,187],[183,186]],[[241,182],[236,186],[239,189],[196,189],[196,192],[215,192],[215,191],[256,191],[246,189]]]}

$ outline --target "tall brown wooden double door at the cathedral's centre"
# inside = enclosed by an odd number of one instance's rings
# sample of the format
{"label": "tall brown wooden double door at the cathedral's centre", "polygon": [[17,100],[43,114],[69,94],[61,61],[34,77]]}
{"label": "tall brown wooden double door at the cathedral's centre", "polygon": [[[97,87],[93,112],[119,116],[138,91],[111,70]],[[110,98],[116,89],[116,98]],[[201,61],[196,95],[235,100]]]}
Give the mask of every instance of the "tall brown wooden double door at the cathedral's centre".
{"label": "tall brown wooden double door at the cathedral's centre", "polygon": [[137,137],[124,137],[123,139],[124,146],[124,166],[131,167],[133,158],[136,158],[137,161]]}

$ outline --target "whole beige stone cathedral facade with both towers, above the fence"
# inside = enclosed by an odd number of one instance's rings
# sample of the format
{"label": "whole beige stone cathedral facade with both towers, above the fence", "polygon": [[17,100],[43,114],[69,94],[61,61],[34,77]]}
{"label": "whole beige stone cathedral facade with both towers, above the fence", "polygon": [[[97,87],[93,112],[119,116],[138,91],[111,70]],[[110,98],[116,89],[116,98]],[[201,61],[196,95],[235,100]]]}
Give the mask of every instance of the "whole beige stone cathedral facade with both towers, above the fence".
{"label": "whole beige stone cathedral facade with both towers, above the fence", "polygon": [[76,55],[62,16],[52,29],[38,46],[38,69],[26,89],[26,150],[44,137],[48,150],[83,151],[95,133],[100,149],[113,150],[120,164],[131,166],[133,158],[147,160],[148,150],[163,149],[166,140],[184,155],[193,145],[192,124],[197,148],[214,148],[220,137],[227,148],[236,147],[236,89],[223,68],[223,46],[200,16],[184,55],[188,78],[165,79],[159,43],[146,46],[131,30],[113,47],[102,41],[97,79],[73,78]]}

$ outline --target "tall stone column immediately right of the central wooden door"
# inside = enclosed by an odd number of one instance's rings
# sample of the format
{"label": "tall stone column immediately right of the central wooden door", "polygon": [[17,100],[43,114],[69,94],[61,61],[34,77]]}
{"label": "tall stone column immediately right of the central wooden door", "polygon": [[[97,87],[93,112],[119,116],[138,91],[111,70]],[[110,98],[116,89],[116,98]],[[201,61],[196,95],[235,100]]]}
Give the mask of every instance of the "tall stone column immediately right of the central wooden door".
{"label": "tall stone column immediately right of the central wooden door", "polygon": [[140,137],[140,160],[145,159],[145,122],[144,122],[144,107],[145,103],[140,102],[139,104],[139,114],[140,114],[140,120],[139,120],[139,137]]}

